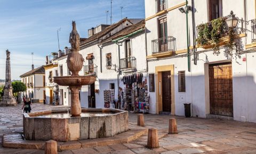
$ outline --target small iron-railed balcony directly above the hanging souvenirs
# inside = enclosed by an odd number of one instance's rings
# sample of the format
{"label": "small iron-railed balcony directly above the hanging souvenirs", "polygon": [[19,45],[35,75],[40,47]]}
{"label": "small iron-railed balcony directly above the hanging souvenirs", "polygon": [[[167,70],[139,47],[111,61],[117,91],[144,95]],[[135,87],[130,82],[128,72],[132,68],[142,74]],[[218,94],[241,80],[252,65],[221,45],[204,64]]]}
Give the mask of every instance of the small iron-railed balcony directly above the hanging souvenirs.
{"label": "small iron-railed balcony directly above the hanging souvenirs", "polygon": [[120,59],[120,63],[120,70],[122,70],[125,73],[134,72],[137,69],[135,57],[122,58]]}

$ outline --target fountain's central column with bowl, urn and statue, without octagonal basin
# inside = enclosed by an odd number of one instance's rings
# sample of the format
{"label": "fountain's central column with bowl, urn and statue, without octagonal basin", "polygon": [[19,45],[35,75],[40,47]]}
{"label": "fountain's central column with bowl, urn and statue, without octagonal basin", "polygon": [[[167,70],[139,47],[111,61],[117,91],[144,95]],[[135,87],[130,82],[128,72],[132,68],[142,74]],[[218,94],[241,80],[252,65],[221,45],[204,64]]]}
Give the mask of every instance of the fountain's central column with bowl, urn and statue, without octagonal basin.
{"label": "fountain's central column with bowl, urn and statue, without octagonal basin", "polygon": [[71,90],[71,107],[70,114],[79,116],[81,114],[81,105],[79,101],[79,89],[82,85],[89,85],[95,82],[96,76],[79,76],[79,71],[82,70],[84,58],[79,54],[80,36],[76,30],[76,22],[72,22],[73,29],[69,36],[71,44],[71,53],[68,54],[67,65],[72,72],[71,76],[56,76],[54,82],[58,85],[69,86]]}

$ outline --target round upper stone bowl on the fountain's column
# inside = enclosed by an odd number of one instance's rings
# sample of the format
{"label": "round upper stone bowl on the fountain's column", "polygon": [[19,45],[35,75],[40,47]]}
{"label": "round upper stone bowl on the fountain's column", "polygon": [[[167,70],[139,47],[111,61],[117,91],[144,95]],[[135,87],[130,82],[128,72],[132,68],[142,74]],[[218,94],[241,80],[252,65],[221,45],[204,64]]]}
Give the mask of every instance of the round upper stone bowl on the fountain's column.
{"label": "round upper stone bowl on the fountain's column", "polygon": [[55,76],[54,82],[62,86],[81,86],[94,83],[96,76]]}

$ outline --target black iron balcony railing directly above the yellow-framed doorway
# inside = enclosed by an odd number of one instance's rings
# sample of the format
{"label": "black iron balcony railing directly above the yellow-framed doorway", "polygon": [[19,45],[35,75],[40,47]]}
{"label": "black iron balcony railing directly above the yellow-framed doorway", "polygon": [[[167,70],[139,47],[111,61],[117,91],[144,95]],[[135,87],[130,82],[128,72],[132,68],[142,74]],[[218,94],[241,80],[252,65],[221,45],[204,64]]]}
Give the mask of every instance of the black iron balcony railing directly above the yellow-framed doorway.
{"label": "black iron balcony railing directly above the yellow-framed doorway", "polygon": [[176,38],[172,36],[152,40],[152,54],[175,52]]}

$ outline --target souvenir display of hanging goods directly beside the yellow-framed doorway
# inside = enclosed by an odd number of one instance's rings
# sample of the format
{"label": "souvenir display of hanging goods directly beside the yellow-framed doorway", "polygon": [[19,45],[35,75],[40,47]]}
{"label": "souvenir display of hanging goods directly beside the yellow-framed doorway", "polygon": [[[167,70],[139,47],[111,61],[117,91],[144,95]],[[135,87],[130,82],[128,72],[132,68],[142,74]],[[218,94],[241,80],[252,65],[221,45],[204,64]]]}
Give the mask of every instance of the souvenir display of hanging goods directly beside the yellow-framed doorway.
{"label": "souvenir display of hanging goods directly beside the yellow-framed doorway", "polygon": [[147,78],[143,81],[142,73],[133,73],[123,76],[122,82],[126,85],[123,93],[122,107],[132,112],[149,112],[149,93]]}

